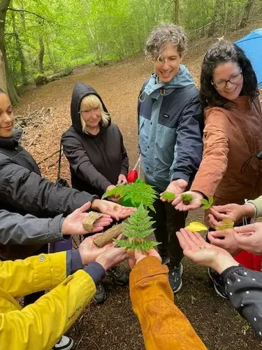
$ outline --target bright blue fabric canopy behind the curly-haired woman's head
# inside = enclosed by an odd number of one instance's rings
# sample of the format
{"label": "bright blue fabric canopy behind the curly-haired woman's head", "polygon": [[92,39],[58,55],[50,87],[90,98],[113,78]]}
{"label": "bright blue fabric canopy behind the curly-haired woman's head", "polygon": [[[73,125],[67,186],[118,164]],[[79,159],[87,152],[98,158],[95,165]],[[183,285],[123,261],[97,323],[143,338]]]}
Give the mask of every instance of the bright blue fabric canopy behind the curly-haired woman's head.
{"label": "bright blue fabric canopy behind the curly-haired woman's head", "polygon": [[235,43],[245,51],[250,59],[259,87],[262,87],[262,28],[251,31]]}

